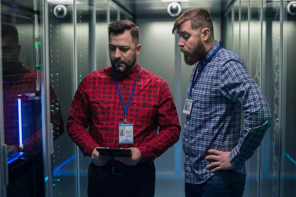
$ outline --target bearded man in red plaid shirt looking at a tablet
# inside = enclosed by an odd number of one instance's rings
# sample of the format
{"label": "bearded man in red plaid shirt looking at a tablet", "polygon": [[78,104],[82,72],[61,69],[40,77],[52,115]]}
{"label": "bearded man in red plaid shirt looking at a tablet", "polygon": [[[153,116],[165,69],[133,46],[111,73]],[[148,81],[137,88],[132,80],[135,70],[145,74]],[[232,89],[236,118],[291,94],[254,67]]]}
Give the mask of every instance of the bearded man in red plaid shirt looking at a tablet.
{"label": "bearded man in red plaid shirt looking at a tablet", "polygon": [[[108,30],[111,66],[81,81],[67,130],[82,154],[92,158],[89,197],[153,197],[153,160],[180,137],[176,106],[166,82],[137,61],[139,28],[125,20]],[[98,147],[130,149],[132,156],[110,158]]]}

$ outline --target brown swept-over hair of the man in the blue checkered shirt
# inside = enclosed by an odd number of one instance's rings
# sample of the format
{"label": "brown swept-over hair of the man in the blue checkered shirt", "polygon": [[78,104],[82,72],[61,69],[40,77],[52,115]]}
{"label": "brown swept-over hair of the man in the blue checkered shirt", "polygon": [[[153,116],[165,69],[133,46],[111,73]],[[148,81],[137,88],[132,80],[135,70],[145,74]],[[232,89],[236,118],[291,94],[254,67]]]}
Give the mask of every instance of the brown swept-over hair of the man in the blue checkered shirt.
{"label": "brown swept-over hair of the man in the blue checkered shirt", "polygon": [[186,10],[174,23],[172,33],[175,34],[176,30],[186,21],[191,22],[191,28],[198,30],[209,28],[211,33],[214,34],[213,18],[210,10],[207,8],[192,8]]}

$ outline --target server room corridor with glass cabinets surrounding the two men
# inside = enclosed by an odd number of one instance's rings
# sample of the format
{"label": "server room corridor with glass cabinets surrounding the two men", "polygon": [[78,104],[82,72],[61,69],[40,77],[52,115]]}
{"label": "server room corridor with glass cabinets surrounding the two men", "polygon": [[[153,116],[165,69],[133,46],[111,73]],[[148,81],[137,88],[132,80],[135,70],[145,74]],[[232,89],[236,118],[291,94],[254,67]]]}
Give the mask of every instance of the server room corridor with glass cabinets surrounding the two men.
{"label": "server room corridor with glass cabinets surrounding the two men", "polygon": [[172,29],[196,7],[209,8],[215,39],[243,60],[272,113],[245,163],[243,196],[296,197],[295,0],[0,0],[0,197],[88,196],[92,160],[67,122],[81,81],[111,66],[108,26],[119,20],[139,27],[138,62],[167,83],[181,125],[178,142],[154,160],[154,196],[185,197],[183,109],[193,66]]}

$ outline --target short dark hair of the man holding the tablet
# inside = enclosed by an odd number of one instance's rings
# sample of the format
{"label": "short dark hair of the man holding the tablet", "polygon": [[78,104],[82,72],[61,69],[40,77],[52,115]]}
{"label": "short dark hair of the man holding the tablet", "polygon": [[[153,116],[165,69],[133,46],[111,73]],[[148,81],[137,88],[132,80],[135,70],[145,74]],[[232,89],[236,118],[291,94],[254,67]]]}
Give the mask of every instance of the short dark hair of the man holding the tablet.
{"label": "short dark hair of the man holding the tablet", "polygon": [[123,34],[125,31],[130,31],[133,42],[138,45],[140,42],[140,29],[132,21],[121,20],[111,23],[108,27],[109,38],[110,34],[114,33],[115,35]]}

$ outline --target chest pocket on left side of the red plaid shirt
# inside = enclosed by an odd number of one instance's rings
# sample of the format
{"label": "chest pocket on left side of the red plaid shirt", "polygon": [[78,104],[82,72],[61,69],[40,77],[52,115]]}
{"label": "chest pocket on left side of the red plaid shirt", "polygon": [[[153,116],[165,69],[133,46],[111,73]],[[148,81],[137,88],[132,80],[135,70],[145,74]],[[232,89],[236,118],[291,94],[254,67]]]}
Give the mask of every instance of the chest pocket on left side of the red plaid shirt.
{"label": "chest pocket on left side of the red plaid shirt", "polygon": [[92,119],[95,123],[111,120],[114,111],[114,99],[95,99],[90,101]]}

